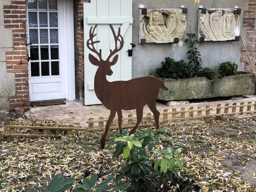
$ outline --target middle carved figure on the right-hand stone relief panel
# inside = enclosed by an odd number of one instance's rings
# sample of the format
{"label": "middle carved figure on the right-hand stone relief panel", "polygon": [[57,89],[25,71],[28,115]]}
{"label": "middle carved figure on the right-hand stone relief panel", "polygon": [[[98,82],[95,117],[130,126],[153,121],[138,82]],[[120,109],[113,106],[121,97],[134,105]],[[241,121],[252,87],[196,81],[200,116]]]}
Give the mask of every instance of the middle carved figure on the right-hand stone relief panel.
{"label": "middle carved figure on the right-hand stone relief panel", "polygon": [[215,37],[217,39],[220,39],[222,37],[222,11],[213,11],[210,14],[210,28],[212,33],[214,33]]}

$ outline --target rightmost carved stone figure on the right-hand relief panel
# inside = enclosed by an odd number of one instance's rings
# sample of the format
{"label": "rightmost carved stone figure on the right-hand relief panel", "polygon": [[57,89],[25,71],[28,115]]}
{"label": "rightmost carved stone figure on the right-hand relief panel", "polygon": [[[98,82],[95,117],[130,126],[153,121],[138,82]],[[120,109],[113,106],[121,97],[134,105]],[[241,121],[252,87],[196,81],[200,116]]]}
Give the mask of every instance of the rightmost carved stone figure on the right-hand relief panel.
{"label": "rightmost carved stone figure on the right-hand relief panel", "polygon": [[236,19],[234,14],[226,12],[223,18],[222,34],[227,39],[233,39],[236,33]]}

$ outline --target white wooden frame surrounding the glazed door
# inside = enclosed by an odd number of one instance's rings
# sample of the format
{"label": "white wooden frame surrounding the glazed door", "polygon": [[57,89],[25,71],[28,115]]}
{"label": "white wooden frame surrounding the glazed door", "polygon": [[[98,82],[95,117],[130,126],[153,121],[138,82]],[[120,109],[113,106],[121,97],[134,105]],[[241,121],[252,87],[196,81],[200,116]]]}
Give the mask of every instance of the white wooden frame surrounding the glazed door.
{"label": "white wooden frame surrounding the glazed door", "polygon": [[[59,25],[59,62],[61,62],[60,74],[63,77],[65,87],[63,87],[63,98],[75,100],[75,49],[74,49],[74,0],[57,0],[58,1],[58,25]],[[59,6],[60,5],[60,6]],[[28,10],[27,24],[28,24]],[[27,30],[29,25],[27,25]],[[29,38],[28,38],[29,41]],[[30,72],[29,72],[30,73]],[[29,89],[31,88],[29,83]],[[33,99],[30,101],[41,101]],[[46,99],[46,100],[54,100]]]}

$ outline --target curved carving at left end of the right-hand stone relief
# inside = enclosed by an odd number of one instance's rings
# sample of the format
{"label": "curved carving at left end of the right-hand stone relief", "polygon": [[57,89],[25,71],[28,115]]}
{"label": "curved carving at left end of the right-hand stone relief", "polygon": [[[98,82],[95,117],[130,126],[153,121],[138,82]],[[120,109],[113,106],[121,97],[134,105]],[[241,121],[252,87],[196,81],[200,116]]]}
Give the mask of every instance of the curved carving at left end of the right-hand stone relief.
{"label": "curved carving at left end of the right-hand stone relief", "polygon": [[206,12],[206,14],[200,14],[200,20],[201,28],[199,29],[199,33],[201,37],[206,38],[206,40],[217,40],[209,25],[209,13]]}

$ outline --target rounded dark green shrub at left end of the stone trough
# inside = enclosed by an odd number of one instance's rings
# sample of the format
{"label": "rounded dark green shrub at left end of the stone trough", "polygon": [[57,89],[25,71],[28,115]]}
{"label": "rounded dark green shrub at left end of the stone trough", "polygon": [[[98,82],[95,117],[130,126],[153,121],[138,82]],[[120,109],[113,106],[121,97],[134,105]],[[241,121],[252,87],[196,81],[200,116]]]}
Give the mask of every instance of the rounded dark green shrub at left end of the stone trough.
{"label": "rounded dark green shrub at left end of the stone trough", "polygon": [[162,78],[186,79],[191,77],[191,66],[184,60],[175,61],[173,58],[166,57],[161,62],[161,68],[156,69],[155,75]]}

